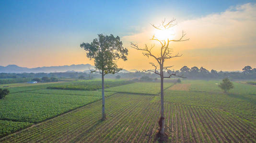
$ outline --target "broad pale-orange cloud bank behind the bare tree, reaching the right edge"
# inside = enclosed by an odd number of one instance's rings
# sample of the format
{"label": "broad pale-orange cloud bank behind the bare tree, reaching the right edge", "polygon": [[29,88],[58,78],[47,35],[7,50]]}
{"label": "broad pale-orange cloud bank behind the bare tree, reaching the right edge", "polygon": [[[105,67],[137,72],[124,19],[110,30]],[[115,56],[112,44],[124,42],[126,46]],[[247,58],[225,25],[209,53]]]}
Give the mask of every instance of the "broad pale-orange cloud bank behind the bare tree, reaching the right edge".
{"label": "broad pale-orange cloud bank behind the bare tree, reaching the right edge", "polygon": [[[177,22],[175,39],[186,31],[186,38],[190,40],[170,44],[175,53],[180,52],[184,56],[166,61],[166,65],[175,65],[175,69],[196,65],[216,70],[240,70],[245,65],[256,66],[256,4],[237,5],[220,13]],[[124,45],[130,47],[129,42],[138,43],[139,46],[149,44],[154,28],[149,25],[143,29],[122,37]],[[147,63],[153,61],[132,49],[129,50],[128,59],[137,64],[133,66],[144,69],[151,68]]]}

